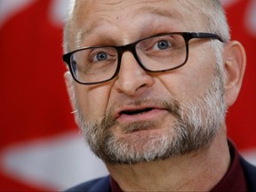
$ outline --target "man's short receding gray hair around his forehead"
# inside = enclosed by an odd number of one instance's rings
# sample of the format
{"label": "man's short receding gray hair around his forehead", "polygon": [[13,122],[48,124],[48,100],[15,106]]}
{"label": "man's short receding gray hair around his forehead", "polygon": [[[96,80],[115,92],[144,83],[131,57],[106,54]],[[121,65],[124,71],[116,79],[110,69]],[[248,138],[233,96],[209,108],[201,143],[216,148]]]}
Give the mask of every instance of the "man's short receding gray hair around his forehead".
{"label": "man's short receding gray hair around his forehead", "polygon": [[[74,49],[74,45],[79,42],[79,22],[82,20],[89,20],[89,18],[84,18],[84,14],[81,12],[86,12],[88,16],[90,16],[90,12],[95,8],[97,8],[97,4],[94,0],[74,0],[75,4],[71,8],[71,12],[69,12],[68,19],[65,22],[64,27],[64,41],[63,47],[64,52],[70,52]],[[99,2],[100,0],[97,0]],[[129,0],[130,1],[130,0]],[[132,1],[132,0],[131,0]],[[150,1],[156,2],[154,0],[147,0],[147,3]],[[163,2],[172,2],[177,1],[188,10],[188,12],[196,12],[198,17],[205,17],[207,20],[208,31],[210,33],[215,33],[222,37],[224,42],[228,42],[230,40],[229,28],[226,19],[226,15],[222,5],[219,0],[165,0]],[[122,4],[125,1],[122,0],[113,0],[107,1],[104,3],[102,1],[101,4],[106,4],[108,6]],[[137,1],[136,1],[137,2]],[[193,20],[191,20],[193,22]],[[72,46],[71,46],[72,45]],[[77,47],[78,48],[78,47]]]}

